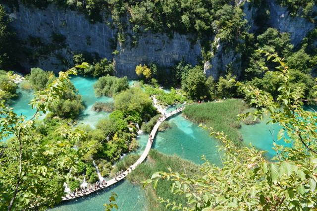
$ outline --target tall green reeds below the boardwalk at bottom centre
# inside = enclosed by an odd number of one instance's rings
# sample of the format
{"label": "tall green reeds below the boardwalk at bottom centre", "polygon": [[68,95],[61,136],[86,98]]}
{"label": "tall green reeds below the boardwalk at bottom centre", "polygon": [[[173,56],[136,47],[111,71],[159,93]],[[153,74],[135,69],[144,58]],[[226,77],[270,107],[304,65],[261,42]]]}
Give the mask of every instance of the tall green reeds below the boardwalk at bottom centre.
{"label": "tall green reeds below the boardwalk at bottom centre", "polygon": [[[168,156],[158,152],[157,150],[151,150],[146,162],[138,165],[127,177],[131,182],[142,185],[140,182],[151,178],[152,174],[156,171],[168,171],[167,167],[170,167],[173,171],[185,172],[188,177],[193,177],[200,173],[201,166],[196,165],[193,162],[179,158],[178,156]],[[159,204],[158,197],[169,199],[171,202],[175,201],[176,204],[187,204],[187,199],[179,195],[174,195],[170,192],[171,181],[159,180],[158,187],[154,190],[152,185],[148,185],[145,188],[146,194],[146,206],[151,211],[165,211],[164,204]]]}

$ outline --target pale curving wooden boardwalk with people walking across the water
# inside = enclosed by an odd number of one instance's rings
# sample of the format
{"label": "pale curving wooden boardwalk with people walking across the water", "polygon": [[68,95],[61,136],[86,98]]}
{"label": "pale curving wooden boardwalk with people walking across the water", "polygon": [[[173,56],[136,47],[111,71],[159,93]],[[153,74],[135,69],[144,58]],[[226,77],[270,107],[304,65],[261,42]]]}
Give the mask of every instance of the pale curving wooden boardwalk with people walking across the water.
{"label": "pale curving wooden boardwalk with people walking across the water", "polygon": [[[155,124],[155,126],[153,127],[153,129],[152,129],[152,131],[151,131],[151,133],[150,133],[150,135],[152,135],[152,139],[153,139],[153,140],[154,140],[155,135],[156,135],[156,133],[157,133],[157,131],[158,131],[158,129],[159,129],[159,125],[160,125],[165,119],[167,119],[168,117],[170,117],[170,116],[172,116],[172,115],[174,115],[174,114],[176,114],[176,113],[179,113],[180,111],[181,111],[181,110],[177,110],[177,111],[174,110],[174,111],[172,111],[172,112],[168,112],[168,113],[166,114],[166,118],[163,118],[163,120],[158,121],[158,122]],[[91,193],[94,193],[94,192],[99,191],[99,190],[101,190],[101,189],[107,188],[107,187],[109,187],[109,186],[111,186],[111,185],[113,185],[113,184],[115,184],[115,183],[121,181],[121,180],[124,179],[129,173],[131,173],[131,171],[134,170],[137,165],[139,165],[140,163],[142,163],[142,162],[145,160],[145,158],[147,158],[147,156],[148,156],[148,154],[149,154],[149,152],[150,152],[150,150],[151,150],[151,147],[152,147],[152,142],[151,142],[151,139],[149,138],[149,139],[148,139],[147,146],[146,146],[144,152],[142,153],[141,157],[140,157],[134,164],[131,165],[131,167],[130,167],[129,170],[127,169],[126,171],[124,171],[122,174],[120,174],[120,175],[117,176],[116,178],[113,178],[113,179],[110,179],[110,180],[106,181],[106,185],[101,185],[100,188],[96,188],[96,189],[93,189],[93,190],[88,190],[88,188],[87,188],[86,193],[83,193],[83,194],[82,194],[82,193],[78,193],[78,194],[76,194],[75,196],[62,197],[62,201],[71,200],[71,199],[76,199],[76,198],[79,198],[79,197],[82,197],[82,196],[85,196],[85,195],[89,195],[89,194],[91,194]]]}

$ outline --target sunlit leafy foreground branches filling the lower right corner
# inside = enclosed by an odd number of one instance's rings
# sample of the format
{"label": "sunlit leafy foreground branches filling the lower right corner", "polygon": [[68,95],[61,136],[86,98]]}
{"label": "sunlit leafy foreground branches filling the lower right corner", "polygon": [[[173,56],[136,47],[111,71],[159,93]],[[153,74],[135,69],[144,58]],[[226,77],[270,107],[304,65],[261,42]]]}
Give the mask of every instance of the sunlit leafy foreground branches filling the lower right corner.
{"label": "sunlit leafy foreground branches filling the lower right corner", "polygon": [[[261,53],[266,53],[260,51]],[[257,109],[253,115],[262,118],[268,114],[271,122],[279,123],[281,129],[278,139],[284,133],[290,137],[291,147],[279,146],[273,142],[275,161],[266,160],[264,152],[254,147],[235,147],[222,132],[211,129],[222,143],[224,153],[223,167],[206,162],[202,173],[188,178],[184,173],[156,172],[151,179],[144,181],[144,186],[158,185],[159,179],[172,180],[171,191],[185,195],[187,205],[176,205],[165,199],[159,201],[179,210],[312,210],[317,208],[316,170],[317,170],[317,114],[302,108],[303,92],[301,88],[291,90],[290,72],[283,60],[276,53],[266,53],[268,59],[279,64],[277,71],[266,74],[281,79],[279,95],[274,99],[266,92],[237,83],[251,98],[251,104]],[[284,137],[285,138],[285,137]]]}

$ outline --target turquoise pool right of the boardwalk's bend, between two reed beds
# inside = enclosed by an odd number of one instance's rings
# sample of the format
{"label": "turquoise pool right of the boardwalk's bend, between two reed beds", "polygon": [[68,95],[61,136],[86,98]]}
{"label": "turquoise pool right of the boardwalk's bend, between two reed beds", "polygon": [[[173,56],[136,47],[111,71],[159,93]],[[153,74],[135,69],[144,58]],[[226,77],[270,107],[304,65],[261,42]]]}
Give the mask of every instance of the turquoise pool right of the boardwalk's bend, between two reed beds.
{"label": "turquoise pool right of the boardwalk's bend, between two reed beds", "polygon": [[202,156],[219,165],[221,163],[218,142],[209,136],[206,129],[198,127],[181,114],[168,119],[171,128],[165,132],[159,132],[154,139],[154,149],[168,154],[178,155],[197,164],[203,164]]}

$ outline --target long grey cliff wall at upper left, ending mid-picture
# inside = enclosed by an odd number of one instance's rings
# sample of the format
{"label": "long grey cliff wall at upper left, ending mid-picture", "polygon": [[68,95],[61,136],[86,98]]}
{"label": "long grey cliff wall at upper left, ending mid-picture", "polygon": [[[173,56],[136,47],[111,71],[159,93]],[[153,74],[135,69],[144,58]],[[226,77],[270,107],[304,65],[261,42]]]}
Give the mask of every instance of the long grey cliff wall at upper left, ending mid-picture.
{"label": "long grey cliff wall at upper left, ending mid-picture", "polygon": [[[84,14],[72,10],[59,10],[54,5],[46,9],[26,7],[19,5],[18,11],[11,11],[12,26],[21,40],[29,36],[40,37],[45,43],[51,42],[52,33],[63,35],[66,38],[65,48],[58,49],[50,55],[41,56],[37,67],[44,70],[58,72],[63,66],[56,58],[61,55],[66,60],[72,60],[74,53],[87,51],[98,53],[102,58],[114,60],[116,75],[138,77],[135,66],[143,63],[157,63],[169,67],[180,61],[183,57],[192,65],[197,63],[201,54],[199,44],[191,45],[188,36],[174,34],[168,38],[166,34],[152,34],[150,32],[138,35],[136,47],[119,42],[113,48],[117,30],[110,28],[106,23],[90,23]],[[133,33],[133,32],[131,32]],[[112,52],[117,50],[117,55]],[[72,64],[70,64],[72,65]],[[22,60],[22,66],[30,69],[34,67],[28,60]]]}

